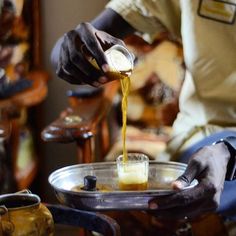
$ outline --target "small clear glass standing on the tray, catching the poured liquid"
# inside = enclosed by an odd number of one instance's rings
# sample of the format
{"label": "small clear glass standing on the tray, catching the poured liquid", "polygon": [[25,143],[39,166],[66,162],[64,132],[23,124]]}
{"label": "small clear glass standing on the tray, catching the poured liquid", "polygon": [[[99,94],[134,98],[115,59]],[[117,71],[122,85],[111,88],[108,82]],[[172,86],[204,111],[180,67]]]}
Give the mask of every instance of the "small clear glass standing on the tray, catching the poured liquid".
{"label": "small clear glass standing on the tray, catching the poured liquid", "polygon": [[145,154],[128,153],[126,161],[123,160],[123,155],[120,155],[116,163],[120,190],[147,189],[149,159]]}

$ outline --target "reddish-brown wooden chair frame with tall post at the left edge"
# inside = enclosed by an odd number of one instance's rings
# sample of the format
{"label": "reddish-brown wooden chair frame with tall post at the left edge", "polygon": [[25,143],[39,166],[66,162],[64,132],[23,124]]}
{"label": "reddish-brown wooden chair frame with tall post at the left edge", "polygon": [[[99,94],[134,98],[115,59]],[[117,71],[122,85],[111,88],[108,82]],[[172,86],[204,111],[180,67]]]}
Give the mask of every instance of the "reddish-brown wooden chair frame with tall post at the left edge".
{"label": "reddish-brown wooden chair frame with tall post at the left edge", "polygon": [[[9,181],[9,187],[1,192],[8,192],[8,190],[15,191],[29,187],[38,169],[38,156],[40,154],[37,147],[35,147],[36,152],[34,154],[35,157],[32,158],[32,163],[27,165],[24,170],[19,170],[17,166],[17,153],[20,144],[22,116],[27,114],[37,124],[39,118],[33,117],[30,113],[32,109],[35,109],[35,111],[40,109],[38,105],[47,95],[49,74],[42,69],[39,9],[39,0],[24,1],[22,12],[27,14],[27,27],[29,27],[27,42],[30,47],[29,70],[26,72],[25,78],[31,81],[32,85],[13,96],[0,99],[0,133],[3,136],[1,141],[1,147],[3,148],[1,149],[0,155],[5,155],[4,161],[7,166],[6,168],[11,172],[12,179],[14,179],[14,181]],[[20,32],[19,27],[16,27],[15,30],[19,30]],[[38,134],[37,130],[33,132],[36,135]],[[15,184],[12,184],[12,182],[15,182]],[[13,188],[15,189],[13,190]]]}

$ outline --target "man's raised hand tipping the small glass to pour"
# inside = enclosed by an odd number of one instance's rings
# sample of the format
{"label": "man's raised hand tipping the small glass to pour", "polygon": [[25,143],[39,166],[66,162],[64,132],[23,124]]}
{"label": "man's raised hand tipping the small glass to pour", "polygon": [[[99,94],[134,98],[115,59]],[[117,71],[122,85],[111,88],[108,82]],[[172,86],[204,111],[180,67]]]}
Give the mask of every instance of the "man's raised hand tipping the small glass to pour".
{"label": "man's raised hand tipping the small glass to pour", "polygon": [[[122,40],[97,30],[90,23],[81,23],[63,37],[57,75],[72,84],[97,87],[108,82],[109,66],[104,51],[115,44],[124,46]],[[89,58],[94,58],[101,70],[91,65]]]}

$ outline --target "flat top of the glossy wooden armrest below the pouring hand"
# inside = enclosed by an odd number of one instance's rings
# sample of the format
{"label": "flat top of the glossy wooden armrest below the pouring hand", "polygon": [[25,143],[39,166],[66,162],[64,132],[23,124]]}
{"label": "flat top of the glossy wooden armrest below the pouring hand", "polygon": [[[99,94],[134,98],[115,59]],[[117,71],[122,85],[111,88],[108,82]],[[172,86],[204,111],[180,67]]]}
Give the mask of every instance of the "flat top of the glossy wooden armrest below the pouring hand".
{"label": "flat top of the glossy wooden armrest below the pouring hand", "polygon": [[[118,83],[109,83],[96,96],[71,101],[60,117],[41,133],[44,141],[74,142],[92,137],[97,127],[112,107],[112,100],[119,88]],[[71,99],[71,98],[70,98]]]}

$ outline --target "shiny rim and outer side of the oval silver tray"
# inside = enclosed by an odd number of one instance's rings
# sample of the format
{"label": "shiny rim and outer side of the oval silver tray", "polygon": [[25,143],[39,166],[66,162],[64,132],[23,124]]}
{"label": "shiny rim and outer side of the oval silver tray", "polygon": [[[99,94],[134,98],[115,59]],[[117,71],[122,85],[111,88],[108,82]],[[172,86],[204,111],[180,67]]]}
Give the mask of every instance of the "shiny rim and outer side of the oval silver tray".
{"label": "shiny rim and outer side of the oval silver tray", "polygon": [[[169,166],[177,166],[179,170],[186,169],[187,165],[180,162],[162,162],[162,161],[149,161],[149,164],[157,164],[157,165],[169,165]],[[116,162],[96,162],[89,164],[75,164],[66,167],[62,167],[58,170],[52,172],[48,181],[52,186],[54,193],[59,200],[59,202],[68,207],[87,210],[87,211],[120,211],[120,210],[150,210],[148,207],[148,202],[153,198],[158,198],[162,196],[171,195],[179,190],[173,189],[148,189],[143,191],[120,191],[114,190],[110,192],[103,191],[73,191],[67,190],[65,188],[60,188],[53,185],[53,181],[56,177],[59,179],[62,178],[61,172],[68,173],[71,169],[84,168],[84,167],[100,167],[104,169],[106,166],[116,166]],[[150,167],[149,167],[150,168]],[[93,170],[93,169],[91,169]],[[96,169],[97,170],[97,169]],[[188,187],[180,191],[184,191],[186,189],[193,188],[198,184],[197,180],[194,180]]]}

